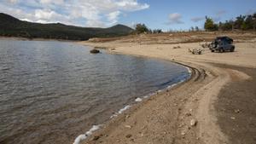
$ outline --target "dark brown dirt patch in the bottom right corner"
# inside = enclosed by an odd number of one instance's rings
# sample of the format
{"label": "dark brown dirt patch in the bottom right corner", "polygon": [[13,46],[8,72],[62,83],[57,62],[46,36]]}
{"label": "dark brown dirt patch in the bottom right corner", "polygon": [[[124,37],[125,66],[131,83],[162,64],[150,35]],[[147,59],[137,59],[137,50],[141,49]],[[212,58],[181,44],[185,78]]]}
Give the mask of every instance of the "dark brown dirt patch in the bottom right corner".
{"label": "dark brown dirt patch in the bottom right corner", "polygon": [[214,104],[218,124],[232,144],[256,143],[256,69],[216,65],[246,73],[250,78],[241,80],[231,76]]}

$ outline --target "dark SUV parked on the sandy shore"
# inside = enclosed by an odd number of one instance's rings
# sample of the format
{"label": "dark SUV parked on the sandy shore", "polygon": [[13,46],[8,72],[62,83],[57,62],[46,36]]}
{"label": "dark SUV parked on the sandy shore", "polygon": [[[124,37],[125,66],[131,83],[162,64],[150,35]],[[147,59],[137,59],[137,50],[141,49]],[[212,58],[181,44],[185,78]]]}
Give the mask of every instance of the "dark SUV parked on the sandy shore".
{"label": "dark SUV parked on the sandy shore", "polygon": [[209,48],[212,52],[233,52],[235,50],[235,46],[232,43],[233,39],[230,37],[216,37],[214,41],[210,44]]}

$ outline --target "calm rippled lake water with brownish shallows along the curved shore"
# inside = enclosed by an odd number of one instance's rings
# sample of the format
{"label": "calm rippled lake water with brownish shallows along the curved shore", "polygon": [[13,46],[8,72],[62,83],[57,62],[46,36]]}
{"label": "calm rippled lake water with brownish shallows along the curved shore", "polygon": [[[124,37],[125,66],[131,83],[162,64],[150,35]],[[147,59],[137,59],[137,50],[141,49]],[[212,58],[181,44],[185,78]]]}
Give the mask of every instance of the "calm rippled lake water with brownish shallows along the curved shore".
{"label": "calm rippled lake water with brownish shallows along the curved shore", "polygon": [[186,67],[91,55],[76,43],[0,40],[0,143],[60,144],[114,112],[189,78]]}

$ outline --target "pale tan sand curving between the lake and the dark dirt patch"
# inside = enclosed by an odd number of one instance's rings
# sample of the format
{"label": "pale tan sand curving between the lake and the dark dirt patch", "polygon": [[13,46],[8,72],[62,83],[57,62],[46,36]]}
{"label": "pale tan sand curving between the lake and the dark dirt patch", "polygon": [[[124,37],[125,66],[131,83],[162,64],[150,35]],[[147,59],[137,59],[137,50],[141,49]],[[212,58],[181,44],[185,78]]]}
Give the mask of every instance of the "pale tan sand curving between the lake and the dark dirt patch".
{"label": "pale tan sand curving between the lake and the dark dirt patch", "polygon": [[[254,40],[252,43],[254,43]],[[116,120],[114,120],[114,122],[109,122],[107,126],[104,126],[102,130],[96,131],[95,134],[91,135],[83,143],[209,143],[210,141],[214,144],[224,142],[229,143],[229,135],[224,134],[221,130],[222,128],[220,128],[218,125],[218,113],[216,113],[213,104],[214,102],[218,101],[218,95],[220,90],[223,89],[224,85],[231,83],[231,73],[229,69],[213,66],[213,64],[217,63],[220,65],[225,64],[229,66],[235,64],[235,66],[255,67],[256,62],[251,58],[252,55],[247,56],[239,54],[241,53],[241,48],[239,48],[239,53],[233,54],[241,56],[238,57],[241,60],[235,60],[234,62],[233,57],[237,56],[229,53],[223,54],[224,56],[229,56],[229,59],[224,60],[214,60],[215,54],[211,53],[207,53],[207,56],[181,55],[186,51],[186,49],[170,49],[170,47],[177,46],[177,44],[138,44],[120,41],[105,43],[80,42],[80,44],[91,47],[104,47],[107,48],[110,53],[139,55],[162,60],[171,60],[179,64],[194,67],[197,70],[195,73],[198,75],[198,77],[194,80],[192,80],[192,78],[187,83],[179,84],[171,91],[157,96],[152,96],[148,101],[142,102],[143,104],[140,104],[140,106],[137,106],[137,108],[132,108],[131,110],[125,112],[122,116],[119,116]],[[236,44],[241,47],[241,45],[243,46],[247,44],[247,42],[245,42],[245,44]],[[182,48],[190,48],[190,45],[195,46],[195,43],[179,43],[178,45],[181,45]],[[254,55],[254,48],[249,50],[253,50]],[[218,56],[223,57],[223,55]],[[203,57],[203,59],[200,56]],[[251,61],[251,63],[247,65],[247,61]],[[242,76],[244,76],[245,73],[235,72],[235,75],[236,77],[242,79]],[[170,95],[172,96],[170,97]],[[181,97],[177,97],[177,95],[180,95]],[[163,97],[165,97],[164,101]],[[182,100],[176,101],[176,99]],[[166,100],[169,102],[166,103]],[[155,103],[154,101],[166,103],[167,106],[172,108],[169,109],[166,107],[161,107],[160,103]],[[171,106],[173,101],[176,101],[176,103],[174,102],[175,105]],[[153,105],[160,108],[155,109],[152,107]],[[158,115],[156,119],[161,119],[166,112],[172,112],[174,115],[169,116],[169,118],[172,119],[171,121],[168,118],[164,118],[162,123],[155,124],[154,121],[152,122],[152,119],[155,118],[154,115],[152,115],[152,113],[150,115],[145,114],[148,112],[161,113],[161,115]],[[189,124],[192,120],[195,121],[195,126]],[[144,121],[149,122],[148,124],[144,124]],[[127,129],[124,125],[130,125],[130,129]],[[139,127],[147,127],[149,125],[153,127],[153,130],[147,129],[145,130],[145,133],[148,133],[148,135],[142,135],[143,130],[139,129]],[[156,125],[162,129],[159,130]],[[172,128],[170,128],[170,125]],[[165,130],[168,132],[157,136],[153,135],[158,132],[161,133],[160,131]],[[127,131],[130,132],[128,133]]]}

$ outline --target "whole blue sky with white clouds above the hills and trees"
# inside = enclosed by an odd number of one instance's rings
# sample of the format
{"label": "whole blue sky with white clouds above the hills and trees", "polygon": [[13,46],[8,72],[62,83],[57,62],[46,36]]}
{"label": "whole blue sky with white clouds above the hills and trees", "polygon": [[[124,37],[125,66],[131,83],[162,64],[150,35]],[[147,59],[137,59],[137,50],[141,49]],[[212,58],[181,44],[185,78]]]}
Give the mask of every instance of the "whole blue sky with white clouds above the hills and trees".
{"label": "whole blue sky with white clouds above the hills and trees", "polygon": [[169,31],[203,28],[205,16],[219,22],[253,14],[256,0],[0,0],[0,12],[39,23],[83,27],[144,23]]}

